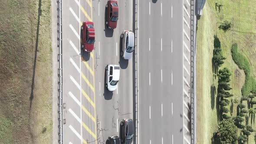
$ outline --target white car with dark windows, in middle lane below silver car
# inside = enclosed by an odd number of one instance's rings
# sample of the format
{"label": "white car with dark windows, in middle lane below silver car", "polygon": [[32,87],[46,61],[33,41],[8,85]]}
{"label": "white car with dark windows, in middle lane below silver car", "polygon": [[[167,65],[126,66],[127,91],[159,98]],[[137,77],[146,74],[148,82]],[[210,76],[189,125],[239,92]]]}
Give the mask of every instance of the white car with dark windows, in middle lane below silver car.
{"label": "white car with dark windows, in middle lane below silver car", "polygon": [[115,91],[117,88],[117,83],[120,76],[120,66],[119,65],[107,65],[106,68],[106,88],[109,91]]}

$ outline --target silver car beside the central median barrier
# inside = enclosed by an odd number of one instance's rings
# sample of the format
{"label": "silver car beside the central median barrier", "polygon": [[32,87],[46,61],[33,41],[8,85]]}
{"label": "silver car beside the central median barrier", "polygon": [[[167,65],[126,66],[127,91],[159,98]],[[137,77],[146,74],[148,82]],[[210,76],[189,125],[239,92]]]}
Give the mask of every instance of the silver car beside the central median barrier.
{"label": "silver car beside the central median barrier", "polygon": [[120,37],[122,39],[122,49],[121,49],[120,55],[124,59],[131,59],[132,52],[135,49],[134,48],[134,43],[135,43],[134,33],[131,30],[125,30],[121,34]]}

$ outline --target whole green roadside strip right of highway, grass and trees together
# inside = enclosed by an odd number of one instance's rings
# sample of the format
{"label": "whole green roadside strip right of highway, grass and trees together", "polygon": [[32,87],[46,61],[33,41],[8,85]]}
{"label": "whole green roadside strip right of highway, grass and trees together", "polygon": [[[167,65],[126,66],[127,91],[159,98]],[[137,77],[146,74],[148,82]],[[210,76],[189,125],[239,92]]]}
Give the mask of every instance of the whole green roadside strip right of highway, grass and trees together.
{"label": "whole green roadside strip right of highway, grass and trees together", "polygon": [[256,143],[255,5],[207,0],[197,21],[198,144]]}

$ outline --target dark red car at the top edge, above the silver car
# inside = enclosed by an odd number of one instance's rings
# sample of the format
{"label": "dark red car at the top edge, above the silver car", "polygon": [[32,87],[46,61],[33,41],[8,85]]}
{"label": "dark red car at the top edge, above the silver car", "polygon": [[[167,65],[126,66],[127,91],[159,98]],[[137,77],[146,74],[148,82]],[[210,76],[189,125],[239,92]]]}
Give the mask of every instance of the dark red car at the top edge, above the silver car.
{"label": "dark red car at the top edge, above the silver car", "polygon": [[111,29],[115,29],[117,26],[117,20],[118,20],[117,1],[108,0],[108,4],[106,4],[106,9],[107,9],[106,25]]}

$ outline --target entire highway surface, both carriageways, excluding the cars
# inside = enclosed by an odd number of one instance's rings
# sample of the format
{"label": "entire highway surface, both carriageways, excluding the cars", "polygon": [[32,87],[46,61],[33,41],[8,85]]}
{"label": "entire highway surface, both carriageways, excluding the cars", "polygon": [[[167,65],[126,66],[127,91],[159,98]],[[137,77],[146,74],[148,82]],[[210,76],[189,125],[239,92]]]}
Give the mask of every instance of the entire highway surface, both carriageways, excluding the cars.
{"label": "entire highway surface, both carriageways, excluding the cars", "polygon": [[[117,28],[108,29],[107,0],[63,0],[65,144],[105,144],[108,136],[119,135],[123,118],[134,118],[135,59],[120,56],[120,34],[133,30],[135,23],[134,1],[118,0]],[[139,144],[190,144],[189,5],[188,0],[138,0]],[[95,49],[90,53],[81,49],[83,21],[94,22]],[[105,88],[108,64],[121,67],[114,92]]]}

